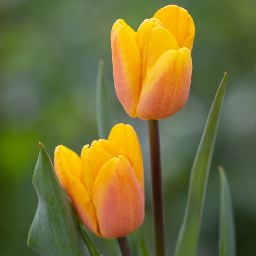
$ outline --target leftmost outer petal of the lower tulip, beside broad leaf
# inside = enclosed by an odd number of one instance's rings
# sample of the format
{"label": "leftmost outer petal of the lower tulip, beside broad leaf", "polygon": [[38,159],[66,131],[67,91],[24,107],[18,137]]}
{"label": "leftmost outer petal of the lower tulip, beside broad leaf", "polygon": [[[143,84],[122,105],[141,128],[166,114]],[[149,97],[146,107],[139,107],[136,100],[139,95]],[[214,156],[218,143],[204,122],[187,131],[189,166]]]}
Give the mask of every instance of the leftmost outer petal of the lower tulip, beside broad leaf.
{"label": "leftmost outer petal of the lower tulip, beside broad leaf", "polygon": [[[58,148],[62,149],[62,151],[58,150]],[[70,172],[68,165],[69,158],[66,158],[66,155],[63,153],[63,148],[63,146],[59,146],[55,149],[55,172],[61,185],[68,193],[84,225],[86,225],[93,233],[97,234],[97,236],[101,237],[102,235],[99,232],[95,209],[89,199],[87,189],[83,186],[80,180]]]}

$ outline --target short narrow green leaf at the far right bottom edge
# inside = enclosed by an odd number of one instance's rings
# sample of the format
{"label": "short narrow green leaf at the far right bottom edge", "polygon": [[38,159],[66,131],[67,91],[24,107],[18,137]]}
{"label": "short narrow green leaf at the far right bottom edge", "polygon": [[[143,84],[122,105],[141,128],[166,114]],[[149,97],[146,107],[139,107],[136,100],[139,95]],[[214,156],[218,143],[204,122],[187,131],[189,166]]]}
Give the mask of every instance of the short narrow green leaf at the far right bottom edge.
{"label": "short narrow green leaf at the far right bottom edge", "polygon": [[219,226],[219,255],[236,255],[236,232],[232,200],[227,176],[224,169],[219,166],[220,174],[220,226]]}

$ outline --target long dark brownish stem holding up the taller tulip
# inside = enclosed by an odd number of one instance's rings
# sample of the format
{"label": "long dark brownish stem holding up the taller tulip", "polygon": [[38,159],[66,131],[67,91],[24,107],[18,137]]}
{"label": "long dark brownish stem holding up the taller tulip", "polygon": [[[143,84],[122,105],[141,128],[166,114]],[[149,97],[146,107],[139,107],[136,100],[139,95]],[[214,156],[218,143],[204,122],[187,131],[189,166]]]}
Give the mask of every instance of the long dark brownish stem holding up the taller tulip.
{"label": "long dark brownish stem holding up the taller tulip", "polygon": [[163,190],[158,120],[148,120],[151,156],[152,215],[155,256],[165,256]]}

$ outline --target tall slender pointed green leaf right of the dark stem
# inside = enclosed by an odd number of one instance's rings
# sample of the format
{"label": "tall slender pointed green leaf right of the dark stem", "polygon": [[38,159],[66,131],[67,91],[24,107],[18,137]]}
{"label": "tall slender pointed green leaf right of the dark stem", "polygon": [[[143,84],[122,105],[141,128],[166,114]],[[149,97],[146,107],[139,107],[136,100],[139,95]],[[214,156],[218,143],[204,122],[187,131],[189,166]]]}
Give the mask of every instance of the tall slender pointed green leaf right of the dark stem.
{"label": "tall slender pointed green leaf right of the dark stem", "polygon": [[175,256],[196,255],[205,191],[226,83],[227,74],[225,72],[212,103],[203,136],[193,162],[186,211],[176,243]]}

